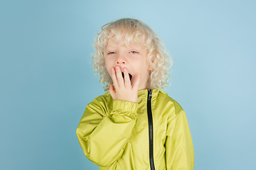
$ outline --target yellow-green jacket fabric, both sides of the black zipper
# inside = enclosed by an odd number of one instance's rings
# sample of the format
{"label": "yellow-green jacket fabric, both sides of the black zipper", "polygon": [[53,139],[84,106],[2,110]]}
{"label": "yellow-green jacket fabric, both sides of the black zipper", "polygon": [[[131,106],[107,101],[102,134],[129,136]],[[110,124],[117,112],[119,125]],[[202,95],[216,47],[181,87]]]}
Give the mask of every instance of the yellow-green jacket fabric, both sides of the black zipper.
{"label": "yellow-green jacket fabric, both sides of the black zipper", "polygon": [[[150,169],[148,91],[138,91],[138,101],[114,101],[109,93],[85,108],[77,129],[85,156],[105,169]],[[164,91],[151,98],[156,170],[190,170],[194,152],[188,121],[181,106]]]}

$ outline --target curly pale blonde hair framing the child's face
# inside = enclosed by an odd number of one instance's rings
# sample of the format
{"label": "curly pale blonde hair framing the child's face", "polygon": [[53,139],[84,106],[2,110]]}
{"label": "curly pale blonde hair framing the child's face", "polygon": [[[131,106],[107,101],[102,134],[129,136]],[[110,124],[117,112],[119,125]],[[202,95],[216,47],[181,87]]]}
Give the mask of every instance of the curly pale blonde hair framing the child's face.
{"label": "curly pale blonde hair framing the child's face", "polygon": [[109,38],[116,38],[119,42],[122,38],[128,46],[132,41],[134,45],[142,45],[147,51],[147,62],[151,67],[148,89],[166,87],[167,80],[170,77],[169,67],[171,67],[171,57],[166,52],[161,39],[154,31],[142,21],[132,18],[122,18],[112,23],[102,26],[102,31],[98,33],[95,42],[95,53],[92,55],[93,67],[97,74],[100,74],[100,83],[104,85],[104,90],[110,89],[113,84],[110,74],[105,67],[105,47]]}

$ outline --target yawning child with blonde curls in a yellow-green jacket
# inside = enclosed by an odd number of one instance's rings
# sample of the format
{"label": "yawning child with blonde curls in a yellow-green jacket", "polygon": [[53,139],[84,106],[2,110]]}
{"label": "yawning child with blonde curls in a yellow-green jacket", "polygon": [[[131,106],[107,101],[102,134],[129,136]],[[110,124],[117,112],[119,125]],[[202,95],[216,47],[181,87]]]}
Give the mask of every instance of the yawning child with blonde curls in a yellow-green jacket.
{"label": "yawning child with blonde curls in a yellow-green jacket", "polygon": [[85,156],[100,170],[193,169],[186,115],[159,89],[169,55],[154,31],[123,18],[102,27],[95,50],[94,67],[109,93],[87,105],[78,125]]}

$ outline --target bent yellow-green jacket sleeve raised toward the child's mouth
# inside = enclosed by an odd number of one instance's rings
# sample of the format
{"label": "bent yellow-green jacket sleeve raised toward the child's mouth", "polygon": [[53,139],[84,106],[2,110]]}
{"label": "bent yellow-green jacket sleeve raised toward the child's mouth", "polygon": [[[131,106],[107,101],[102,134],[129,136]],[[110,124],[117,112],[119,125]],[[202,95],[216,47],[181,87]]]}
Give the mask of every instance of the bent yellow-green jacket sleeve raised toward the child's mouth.
{"label": "bent yellow-green jacket sleeve raised toward the child's mouth", "polygon": [[99,166],[122,156],[137,118],[137,103],[113,101],[110,113],[105,104],[97,99],[88,104],[76,131],[85,156]]}

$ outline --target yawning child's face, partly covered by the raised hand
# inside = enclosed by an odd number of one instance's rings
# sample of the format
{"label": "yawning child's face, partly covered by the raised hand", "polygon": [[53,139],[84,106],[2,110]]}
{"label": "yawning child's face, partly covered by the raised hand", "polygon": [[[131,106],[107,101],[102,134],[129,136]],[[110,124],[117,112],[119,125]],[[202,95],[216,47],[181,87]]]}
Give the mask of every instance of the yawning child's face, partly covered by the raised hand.
{"label": "yawning child's face, partly covered by the raised hand", "polygon": [[[146,89],[146,83],[149,79],[149,64],[146,62],[147,50],[142,46],[136,46],[132,43],[126,47],[123,40],[114,43],[115,38],[109,38],[105,50],[105,64],[107,72],[111,75],[111,69],[114,67],[127,68],[129,74],[132,75],[131,83],[134,86],[138,75],[141,76],[139,90]],[[124,44],[124,45],[123,45]]]}

